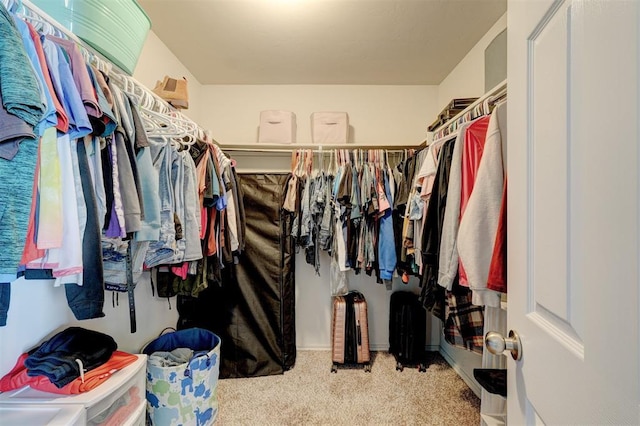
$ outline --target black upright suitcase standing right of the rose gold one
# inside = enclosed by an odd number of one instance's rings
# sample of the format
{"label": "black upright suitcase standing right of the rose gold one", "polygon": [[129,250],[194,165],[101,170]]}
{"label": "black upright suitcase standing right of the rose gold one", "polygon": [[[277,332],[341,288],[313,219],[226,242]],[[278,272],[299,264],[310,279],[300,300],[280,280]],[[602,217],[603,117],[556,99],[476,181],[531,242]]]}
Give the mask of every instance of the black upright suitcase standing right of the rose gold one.
{"label": "black upright suitcase standing right of the rose gold one", "polygon": [[409,291],[393,293],[389,308],[389,352],[396,358],[396,370],[417,365],[419,371],[427,371],[426,334],[427,312],[418,296]]}

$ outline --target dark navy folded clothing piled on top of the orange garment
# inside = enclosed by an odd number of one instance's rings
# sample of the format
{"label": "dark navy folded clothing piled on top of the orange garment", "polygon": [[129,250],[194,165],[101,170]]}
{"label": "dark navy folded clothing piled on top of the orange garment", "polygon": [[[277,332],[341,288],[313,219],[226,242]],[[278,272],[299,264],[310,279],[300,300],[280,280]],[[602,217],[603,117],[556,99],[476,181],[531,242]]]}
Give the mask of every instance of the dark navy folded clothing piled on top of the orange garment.
{"label": "dark navy folded clothing piled on top of the orange garment", "polygon": [[29,376],[46,376],[61,388],[107,362],[117,347],[109,335],[69,327],[30,351],[24,365]]}

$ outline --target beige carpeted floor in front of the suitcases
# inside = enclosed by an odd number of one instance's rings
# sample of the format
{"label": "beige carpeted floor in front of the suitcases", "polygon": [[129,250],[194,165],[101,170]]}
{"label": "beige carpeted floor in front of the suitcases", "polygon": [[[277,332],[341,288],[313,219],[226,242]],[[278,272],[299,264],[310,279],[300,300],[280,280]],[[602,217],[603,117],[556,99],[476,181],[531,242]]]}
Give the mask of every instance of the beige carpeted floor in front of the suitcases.
{"label": "beige carpeted floor in front of the suitcases", "polygon": [[438,354],[425,373],[372,352],[371,373],[331,373],[329,351],[298,351],[283,375],[218,383],[219,425],[473,425],[480,400]]}

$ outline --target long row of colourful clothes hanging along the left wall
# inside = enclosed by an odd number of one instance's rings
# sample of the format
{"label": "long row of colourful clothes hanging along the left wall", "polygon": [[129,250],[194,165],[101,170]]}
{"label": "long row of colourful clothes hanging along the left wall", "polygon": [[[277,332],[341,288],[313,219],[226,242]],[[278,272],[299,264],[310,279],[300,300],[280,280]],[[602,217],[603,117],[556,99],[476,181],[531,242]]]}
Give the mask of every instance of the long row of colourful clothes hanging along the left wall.
{"label": "long row of colourful clothes hanging along the left wall", "polygon": [[208,141],[198,167],[182,119],[140,107],[75,41],[4,6],[0,35],[0,325],[17,276],[64,284],[78,320],[104,316],[105,289],[132,303],[151,266],[195,282],[189,294],[219,282],[245,245],[232,162]]}

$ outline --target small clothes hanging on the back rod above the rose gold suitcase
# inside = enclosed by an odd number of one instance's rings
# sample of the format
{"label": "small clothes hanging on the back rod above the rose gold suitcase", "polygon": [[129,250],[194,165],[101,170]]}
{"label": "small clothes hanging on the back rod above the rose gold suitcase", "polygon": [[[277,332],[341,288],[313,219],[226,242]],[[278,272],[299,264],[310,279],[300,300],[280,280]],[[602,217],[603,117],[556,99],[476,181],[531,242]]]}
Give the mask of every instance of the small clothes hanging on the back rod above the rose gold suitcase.
{"label": "small clothes hanging on the back rod above the rose gold suitcase", "polygon": [[[391,288],[397,265],[394,203],[397,197],[394,172],[381,150],[336,150],[333,170],[313,170],[305,151],[292,158],[292,173],[283,209],[294,212],[292,235],[305,250],[307,263],[319,272],[320,250],[328,251],[336,263],[332,277],[353,270]],[[293,185],[300,188],[294,204]],[[333,261],[332,261],[333,262]],[[338,278],[336,278],[338,279]],[[345,288],[333,285],[332,288]]]}

